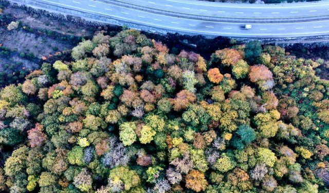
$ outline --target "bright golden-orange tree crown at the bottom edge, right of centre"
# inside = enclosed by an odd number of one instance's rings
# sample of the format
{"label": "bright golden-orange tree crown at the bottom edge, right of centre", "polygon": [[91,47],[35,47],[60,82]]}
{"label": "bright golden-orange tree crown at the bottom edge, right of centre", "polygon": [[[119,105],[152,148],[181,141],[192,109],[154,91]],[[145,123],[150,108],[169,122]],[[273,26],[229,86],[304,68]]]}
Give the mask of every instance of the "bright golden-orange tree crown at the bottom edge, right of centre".
{"label": "bright golden-orange tree crown at the bottom edge, right of centre", "polygon": [[186,187],[196,192],[204,191],[208,185],[205,174],[198,170],[191,170],[185,177]]}

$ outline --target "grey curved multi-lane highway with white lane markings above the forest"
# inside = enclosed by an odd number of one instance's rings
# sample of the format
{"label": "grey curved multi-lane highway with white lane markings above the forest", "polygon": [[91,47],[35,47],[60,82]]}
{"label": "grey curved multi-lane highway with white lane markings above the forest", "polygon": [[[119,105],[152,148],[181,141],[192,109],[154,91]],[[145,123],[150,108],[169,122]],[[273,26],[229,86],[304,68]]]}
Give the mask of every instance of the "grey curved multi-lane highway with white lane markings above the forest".
{"label": "grey curved multi-lane highway with white lane markings above the forest", "polygon": [[[34,2],[137,25],[206,36],[284,38],[329,35],[329,1],[292,4],[228,4],[193,0]],[[245,24],[252,24],[252,29],[241,29]]]}

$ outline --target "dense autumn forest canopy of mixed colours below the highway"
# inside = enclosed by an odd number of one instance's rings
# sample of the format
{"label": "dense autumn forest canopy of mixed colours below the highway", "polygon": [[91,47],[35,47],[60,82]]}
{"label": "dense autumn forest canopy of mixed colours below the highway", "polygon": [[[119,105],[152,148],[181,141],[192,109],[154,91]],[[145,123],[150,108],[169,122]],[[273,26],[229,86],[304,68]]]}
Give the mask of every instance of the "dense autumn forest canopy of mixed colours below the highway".
{"label": "dense autumn forest canopy of mixed colours below the highway", "polygon": [[328,191],[321,60],[252,42],[206,61],[136,30],[72,58],[1,90],[1,190]]}

